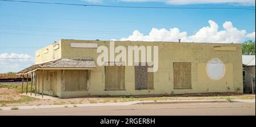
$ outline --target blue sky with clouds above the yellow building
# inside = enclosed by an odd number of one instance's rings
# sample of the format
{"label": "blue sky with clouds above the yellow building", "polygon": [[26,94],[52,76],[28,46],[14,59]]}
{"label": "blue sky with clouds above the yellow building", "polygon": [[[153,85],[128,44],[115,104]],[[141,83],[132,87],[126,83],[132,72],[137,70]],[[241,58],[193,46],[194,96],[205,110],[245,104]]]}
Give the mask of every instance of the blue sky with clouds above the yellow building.
{"label": "blue sky with clouds above the yellow building", "polygon": [[[31,0],[27,0],[31,1]],[[145,2],[141,2],[145,1]],[[152,1],[152,0],[151,0]],[[153,0],[154,1],[154,0]],[[200,0],[204,1],[204,0]],[[243,0],[242,3],[219,2],[190,2],[172,3],[171,1],[147,2],[147,0],[127,0],[127,1],[81,1],[48,0],[43,2],[97,4],[114,6],[163,6],[163,7],[242,7],[255,9],[255,1]],[[184,2],[184,1],[180,1]],[[210,27],[209,20],[212,23]],[[228,23],[225,23],[229,21]],[[0,1],[0,58],[34,57],[35,50],[38,50],[53,41],[60,39],[82,39],[82,40],[148,40],[152,37],[144,37],[150,32],[171,32],[179,31],[179,37],[184,41],[205,41],[192,37],[203,27],[214,28],[218,25],[218,31],[225,31],[222,27],[229,29],[236,28],[231,33],[238,35],[231,38],[237,39],[216,39],[215,36],[207,37],[215,42],[237,41],[241,43],[246,39],[255,40],[255,10],[168,10],[168,9],[125,9],[108,7],[81,7],[65,5],[41,5],[32,3],[4,2]],[[152,28],[155,28],[152,30]],[[164,31],[164,29],[166,31]],[[209,29],[210,29],[209,28]],[[162,30],[160,30],[162,29]],[[206,28],[201,32],[208,31]],[[244,29],[245,31],[242,31]],[[135,30],[138,30],[137,32]],[[134,32],[135,31],[135,32]],[[226,30],[229,31],[229,30]],[[186,32],[184,35],[182,32]],[[254,32],[254,33],[253,33]],[[143,34],[135,36],[133,33]],[[182,33],[182,34],[181,34]],[[247,34],[251,33],[250,36]],[[212,34],[212,33],[210,33]],[[221,33],[214,33],[221,34]],[[202,33],[200,33],[202,36]],[[241,35],[241,36],[240,36]],[[129,36],[131,36],[129,38]],[[226,35],[225,35],[226,36]],[[215,38],[214,38],[215,37]],[[248,38],[250,37],[250,38]],[[228,38],[228,37],[227,37]],[[159,40],[172,41],[175,37],[163,38]],[[154,41],[154,40],[152,40]],[[11,53],[12,56],[11,56]],[[7,71],[18,71],[33,64],[34,60],[7,61],[0,59],[0,73]]]}

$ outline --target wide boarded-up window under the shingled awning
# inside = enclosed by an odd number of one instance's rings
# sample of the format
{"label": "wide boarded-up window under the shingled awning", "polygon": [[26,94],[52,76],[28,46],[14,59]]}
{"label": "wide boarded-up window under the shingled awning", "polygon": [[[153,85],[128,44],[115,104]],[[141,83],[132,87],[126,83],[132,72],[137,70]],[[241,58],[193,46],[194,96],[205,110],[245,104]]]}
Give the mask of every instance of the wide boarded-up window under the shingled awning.
{"label": "wide boarded-up window under the shingled awning", "polygon": [[86,70],[65,70],[65,91],[87,90]]}

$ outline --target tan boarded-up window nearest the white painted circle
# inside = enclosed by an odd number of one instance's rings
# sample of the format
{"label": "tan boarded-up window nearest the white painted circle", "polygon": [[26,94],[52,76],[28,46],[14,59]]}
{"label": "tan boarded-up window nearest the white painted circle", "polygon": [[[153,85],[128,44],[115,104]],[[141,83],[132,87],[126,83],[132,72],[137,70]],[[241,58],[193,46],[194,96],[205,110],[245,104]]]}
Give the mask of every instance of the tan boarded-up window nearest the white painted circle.
{"label": "tan boarded-up window nearest the white painted circle", "polygon": [[174,62],[174,88],[190,89],[191,62]]}

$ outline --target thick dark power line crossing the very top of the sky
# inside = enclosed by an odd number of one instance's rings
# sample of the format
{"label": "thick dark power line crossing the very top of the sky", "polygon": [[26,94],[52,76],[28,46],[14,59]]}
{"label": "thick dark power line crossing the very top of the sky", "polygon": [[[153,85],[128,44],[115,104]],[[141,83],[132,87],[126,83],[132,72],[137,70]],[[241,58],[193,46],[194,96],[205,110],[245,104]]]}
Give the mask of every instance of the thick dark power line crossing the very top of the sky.
{"label": "thick dark power line crossing the very top of the sky", "polygon": [[225,10],[255,10],[251,8],[238,8],[238,7],[150,7],[150,6],[110,6],[110,5],[84,5],[76,3],[57,3],[57,2],[32,2],[32,1],[13,1],[13,0],[0,0],[5,2],[23,2],[23,3],[37,3],[49,5],[69,5],[69,6],[83,6],[83,7],[112,7],[112,8],[131,8],[131,9],[225,9]]}

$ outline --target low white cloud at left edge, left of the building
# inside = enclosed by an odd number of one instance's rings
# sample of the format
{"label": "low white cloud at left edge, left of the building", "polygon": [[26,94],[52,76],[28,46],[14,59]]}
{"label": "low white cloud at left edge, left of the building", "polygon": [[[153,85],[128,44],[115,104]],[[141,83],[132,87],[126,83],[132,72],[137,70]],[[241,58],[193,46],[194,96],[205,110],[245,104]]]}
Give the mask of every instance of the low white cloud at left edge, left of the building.
{"label": "low white cloud at left edge, left of the building", "polygon": [[34,64],[34,58],[28,54],[1,53],[0,73],[18,72]]}

